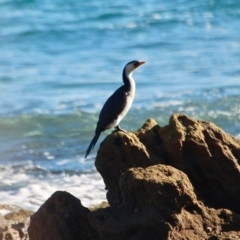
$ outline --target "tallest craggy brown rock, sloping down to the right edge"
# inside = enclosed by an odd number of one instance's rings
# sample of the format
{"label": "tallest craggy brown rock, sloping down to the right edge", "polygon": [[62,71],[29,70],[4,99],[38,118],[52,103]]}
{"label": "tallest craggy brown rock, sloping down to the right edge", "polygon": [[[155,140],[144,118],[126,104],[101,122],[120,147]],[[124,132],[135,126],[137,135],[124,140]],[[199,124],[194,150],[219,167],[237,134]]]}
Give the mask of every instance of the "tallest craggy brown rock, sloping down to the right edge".
{"label": "tallest craggy brown rock, sloping down to the right edge", "polygon": [[199,199],[240,213],[239,140],[183,114],[174,114],[159,136],[171,165],[188,175]]}

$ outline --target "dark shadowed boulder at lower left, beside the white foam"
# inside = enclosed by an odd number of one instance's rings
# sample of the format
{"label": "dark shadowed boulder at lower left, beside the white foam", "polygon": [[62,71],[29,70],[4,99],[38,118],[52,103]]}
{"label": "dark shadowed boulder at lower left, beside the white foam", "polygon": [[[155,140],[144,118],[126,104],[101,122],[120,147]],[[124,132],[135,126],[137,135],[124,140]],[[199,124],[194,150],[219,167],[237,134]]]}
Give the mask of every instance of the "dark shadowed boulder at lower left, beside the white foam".
{"label": "dark shadowed boulder at lower left, beside the white foam", "polygon": [[67,192],[55,192],[31,217],[30,240],[99,239],[88,220],[89,210]]}

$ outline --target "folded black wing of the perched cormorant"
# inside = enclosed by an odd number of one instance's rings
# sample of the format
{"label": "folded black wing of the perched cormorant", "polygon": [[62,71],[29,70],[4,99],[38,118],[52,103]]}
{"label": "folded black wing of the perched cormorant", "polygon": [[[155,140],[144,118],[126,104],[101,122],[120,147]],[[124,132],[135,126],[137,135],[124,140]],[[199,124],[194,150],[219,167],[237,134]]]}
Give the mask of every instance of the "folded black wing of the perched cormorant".
{"label": "folded black wing of the perched cormorant", "polygon": [[128,91],[123,85],[108,98],[100,112],[96,132],[97,130],[104,131],[105,127],[123,111],[127,103],[127,94]]}

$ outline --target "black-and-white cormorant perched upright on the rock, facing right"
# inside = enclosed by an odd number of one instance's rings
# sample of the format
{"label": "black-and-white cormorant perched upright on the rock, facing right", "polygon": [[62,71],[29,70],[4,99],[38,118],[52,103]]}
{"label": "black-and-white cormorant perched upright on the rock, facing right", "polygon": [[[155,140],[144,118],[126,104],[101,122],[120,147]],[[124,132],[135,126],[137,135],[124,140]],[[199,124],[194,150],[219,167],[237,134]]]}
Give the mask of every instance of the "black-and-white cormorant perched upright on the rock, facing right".
{"label": "black-and-white cormorant perched upright on the rock, facing right", "polygon": [[[116,130],[122,130],[119,126],[120,121],[125,117],[130,109],[134,96],[135,96],[135,81],[132,77],[133,71],[144,64],[145,61],[131,61],[126,64],[123,69],[122,78],[124,85],[118,88],[104,104],[95,130],[95,136],[93,137],[85,158],[90,151],[94,148],[101,132],[115,128]],[[122,130],[123,131],[123,130]]]}

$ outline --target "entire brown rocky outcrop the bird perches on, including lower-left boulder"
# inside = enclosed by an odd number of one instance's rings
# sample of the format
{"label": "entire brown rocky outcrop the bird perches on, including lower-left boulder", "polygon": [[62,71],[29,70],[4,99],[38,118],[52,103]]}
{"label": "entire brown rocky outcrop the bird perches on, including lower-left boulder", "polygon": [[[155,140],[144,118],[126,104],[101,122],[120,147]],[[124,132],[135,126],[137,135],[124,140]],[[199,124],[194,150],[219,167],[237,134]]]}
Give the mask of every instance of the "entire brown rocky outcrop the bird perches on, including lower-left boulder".
{"label": "entire brown rocky outcrop the bird perches on, including lower-left boulder", "polygon": [[183,114],[113,132],[95,162],[110,206],[90,212],[56,193],[32,216],[30,239],[240,239],[239,160],[239,140]]}

